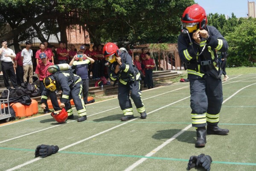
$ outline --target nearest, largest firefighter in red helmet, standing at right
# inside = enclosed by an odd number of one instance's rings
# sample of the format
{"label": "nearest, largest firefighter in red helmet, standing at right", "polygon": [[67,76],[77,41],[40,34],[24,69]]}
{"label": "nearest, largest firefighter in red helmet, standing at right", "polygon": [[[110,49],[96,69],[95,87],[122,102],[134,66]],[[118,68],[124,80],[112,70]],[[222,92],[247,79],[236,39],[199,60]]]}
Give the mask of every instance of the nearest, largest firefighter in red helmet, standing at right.
{"label": "nearest, largest firefighter in red helmet, standing at right", "polygon": [[222,73],[215,52],[226,52],[228,44],[215,27],[207,25],[206,12],[198,4],[185,9],[181,22],[178,50],[190,82],[192,126],[197,135],[195,147],[204,147],[207,133],[229,133],[218,127],[223,96]]}

